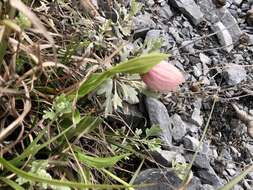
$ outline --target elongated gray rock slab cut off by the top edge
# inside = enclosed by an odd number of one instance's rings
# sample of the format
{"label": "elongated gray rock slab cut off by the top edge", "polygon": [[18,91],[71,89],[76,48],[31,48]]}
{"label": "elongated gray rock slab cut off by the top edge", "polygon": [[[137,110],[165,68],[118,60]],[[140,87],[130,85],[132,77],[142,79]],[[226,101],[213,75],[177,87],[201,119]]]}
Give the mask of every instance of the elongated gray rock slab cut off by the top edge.
{"label": "elongated gray rock slab cut off by the top edge", "polygon": [[170,0],[168,3],[177,7],[194,25],[204,20],[204,15],[194,0]]}

